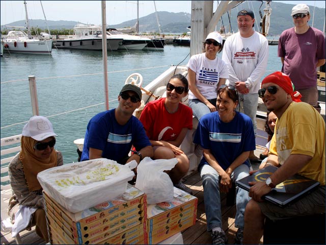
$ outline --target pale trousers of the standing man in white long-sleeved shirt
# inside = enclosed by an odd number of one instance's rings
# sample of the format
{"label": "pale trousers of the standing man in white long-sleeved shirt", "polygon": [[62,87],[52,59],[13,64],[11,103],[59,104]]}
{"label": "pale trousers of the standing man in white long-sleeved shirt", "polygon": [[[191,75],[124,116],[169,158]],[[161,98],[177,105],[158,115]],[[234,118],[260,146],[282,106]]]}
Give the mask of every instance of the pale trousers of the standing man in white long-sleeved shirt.
{"label": "pale trousers of the standing man in white long-sleeved shirt", "polygon": [[248,115],[253,122],[255,135],[257,134],[257,106],[258,106],[258,93],[239,94],[239,105],[237,111]]}

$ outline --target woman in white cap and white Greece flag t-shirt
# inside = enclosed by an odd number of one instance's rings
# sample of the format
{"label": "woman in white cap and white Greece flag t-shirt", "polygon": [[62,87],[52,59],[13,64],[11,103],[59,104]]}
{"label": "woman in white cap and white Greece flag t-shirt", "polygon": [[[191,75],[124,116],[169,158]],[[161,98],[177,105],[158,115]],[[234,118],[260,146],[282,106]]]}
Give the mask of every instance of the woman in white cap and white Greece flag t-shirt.
{"label": "woman in white cap and white Greece flag t-shirt", "polygon": [[216,111],[218,88],[229,78],[227,64],[216,56],[222,51],[222,43],[218,32],[209,33],[204,42],[205,53],[193,55],[187,64],[189,106],[198,120]]}

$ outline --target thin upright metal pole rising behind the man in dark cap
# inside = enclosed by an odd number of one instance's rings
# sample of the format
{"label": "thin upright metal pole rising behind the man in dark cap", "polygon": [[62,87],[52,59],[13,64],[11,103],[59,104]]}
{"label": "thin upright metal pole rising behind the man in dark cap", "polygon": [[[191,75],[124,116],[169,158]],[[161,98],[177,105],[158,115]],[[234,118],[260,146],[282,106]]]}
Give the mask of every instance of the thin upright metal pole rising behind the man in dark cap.
{"label": "thin upright metal pole rising behind the man in dark cap", "polygon": [[101,1],[102,10],[102,57],[103,57],[103,80],[105,109],[108,110],[108,82],[107,82],[107,50],[106,50],[106,7],[105,1]]}

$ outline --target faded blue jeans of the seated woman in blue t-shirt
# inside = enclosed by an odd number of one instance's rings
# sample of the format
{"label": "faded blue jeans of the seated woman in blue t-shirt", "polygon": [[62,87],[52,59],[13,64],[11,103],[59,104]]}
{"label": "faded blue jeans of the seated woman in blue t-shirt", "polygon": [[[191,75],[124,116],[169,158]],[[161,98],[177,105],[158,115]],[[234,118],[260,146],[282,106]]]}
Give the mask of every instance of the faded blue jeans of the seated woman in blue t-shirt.
{"label": "faded blue jeans of the seated woman in blue t-shirt", "polygon": [[[234,169],[231,174],[232,184],[249,175],[249,167],[241,164]],[[200,169],[204,187],[204,204],[207,218],[207,231],[211,231],[214,227],[222,228],[222,211],[221,211],[221,195],[220,195],[220,175],[210,165],[205,164]],[[243,229],[244,226],[244,209],[249,202],[249,192],[247,190],[236,187],[236,215],[235,227]]]}

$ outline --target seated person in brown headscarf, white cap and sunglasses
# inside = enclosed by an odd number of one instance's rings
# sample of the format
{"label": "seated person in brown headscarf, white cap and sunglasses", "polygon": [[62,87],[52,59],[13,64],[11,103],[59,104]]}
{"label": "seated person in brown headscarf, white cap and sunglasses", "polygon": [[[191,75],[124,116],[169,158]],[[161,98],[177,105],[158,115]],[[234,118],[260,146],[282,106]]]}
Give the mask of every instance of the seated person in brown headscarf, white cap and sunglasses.
{"label": "seated person in brown headscarf, white cap and sunglasses", "polygon": [[9,208],[9,216],[14,220],[13,235],[35,225],[36,234],[49,241],[42,187],[37,174],[63,165],[61,152],[54,149],[55,136],[51,122],[44,116],[31,117],[22,130],[21,151],[8,167],[14,193]]}

